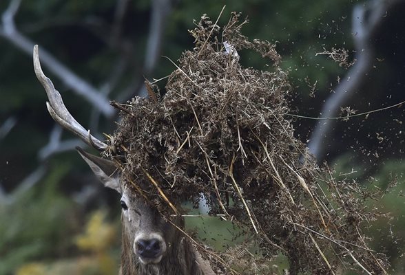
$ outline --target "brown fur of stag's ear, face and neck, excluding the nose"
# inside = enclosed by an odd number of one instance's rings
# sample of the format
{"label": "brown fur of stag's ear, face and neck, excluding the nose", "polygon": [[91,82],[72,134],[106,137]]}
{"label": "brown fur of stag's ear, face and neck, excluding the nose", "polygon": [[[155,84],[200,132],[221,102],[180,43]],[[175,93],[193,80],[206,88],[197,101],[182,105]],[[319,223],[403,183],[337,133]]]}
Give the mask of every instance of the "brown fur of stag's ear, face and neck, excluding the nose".
{"label": "brown fur of stag's ear, face and neck, excluding the nose", "polygon": [[[90,155],[78,148],[80,155],[92,168],[94,174],[103,184],[121,194],[125,209],[121,215],[122,251],[120,275],[215,275],[209,263],[205,263],[194,250],[183,233],[151,208],[143,197],[138,197],[134,190],[121,184],[113,162]],[[174,223],[184,228],[184,219],[178,218]],[[134,251],[137,236],[150,238],[159,236],[165,243],[165,252],[158,263],[141,263]]]}

